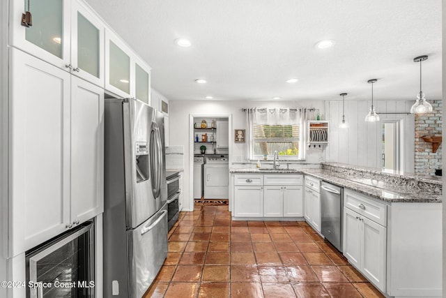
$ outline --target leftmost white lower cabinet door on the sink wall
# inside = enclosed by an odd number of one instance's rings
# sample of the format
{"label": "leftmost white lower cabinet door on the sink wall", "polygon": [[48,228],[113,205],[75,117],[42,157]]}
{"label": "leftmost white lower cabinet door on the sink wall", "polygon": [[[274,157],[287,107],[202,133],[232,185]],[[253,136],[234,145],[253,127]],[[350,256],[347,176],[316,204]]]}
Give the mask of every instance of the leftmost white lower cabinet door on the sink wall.
{"label": "leftmost white lower cabinet door on the sink wall", "polygon": [[234,216],[263,216],[263,186],[236,186]]}

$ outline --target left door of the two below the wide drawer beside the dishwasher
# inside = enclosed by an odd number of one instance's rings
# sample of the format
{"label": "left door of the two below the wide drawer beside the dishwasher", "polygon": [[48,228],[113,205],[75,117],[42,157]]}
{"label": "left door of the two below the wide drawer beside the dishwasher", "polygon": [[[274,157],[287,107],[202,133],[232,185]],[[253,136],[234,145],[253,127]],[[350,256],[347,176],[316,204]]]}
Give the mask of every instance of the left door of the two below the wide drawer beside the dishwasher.
{"label": "left door of the two below the wide drawer beside the dishwasher", "polygon": [[361,266],[361,223],[359,214],[344,207],[344,255],[356,268]]}

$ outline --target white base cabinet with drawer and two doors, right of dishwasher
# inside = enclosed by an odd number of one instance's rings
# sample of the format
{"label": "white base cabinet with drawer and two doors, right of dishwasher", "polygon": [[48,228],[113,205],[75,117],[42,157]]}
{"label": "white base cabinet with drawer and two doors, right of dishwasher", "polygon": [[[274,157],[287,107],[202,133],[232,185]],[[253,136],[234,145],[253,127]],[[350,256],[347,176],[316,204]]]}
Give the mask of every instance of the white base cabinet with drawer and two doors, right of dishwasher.
{"label": "white base cabinet with drawer and two doors, right of dishwasher", "polygon": [[364,195],[348,189],[344,193],[344,255],[383,292],[386,290],[387,228],[377,223],[379,216],[371,214],[385,214],[386,209],[385,204]]}

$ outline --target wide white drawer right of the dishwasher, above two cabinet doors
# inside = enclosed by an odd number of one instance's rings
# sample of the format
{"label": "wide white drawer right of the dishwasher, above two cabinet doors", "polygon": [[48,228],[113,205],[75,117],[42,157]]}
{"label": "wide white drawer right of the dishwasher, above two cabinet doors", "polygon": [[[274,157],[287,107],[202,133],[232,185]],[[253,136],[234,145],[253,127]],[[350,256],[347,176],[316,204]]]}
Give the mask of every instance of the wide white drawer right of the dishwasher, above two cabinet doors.
{"label": "wide white drawer right of the dishwasher, above two cabinet doors", "polygon": [[387,205],[349,189],[344,190],[344,206],[375,223],[387,226]]}

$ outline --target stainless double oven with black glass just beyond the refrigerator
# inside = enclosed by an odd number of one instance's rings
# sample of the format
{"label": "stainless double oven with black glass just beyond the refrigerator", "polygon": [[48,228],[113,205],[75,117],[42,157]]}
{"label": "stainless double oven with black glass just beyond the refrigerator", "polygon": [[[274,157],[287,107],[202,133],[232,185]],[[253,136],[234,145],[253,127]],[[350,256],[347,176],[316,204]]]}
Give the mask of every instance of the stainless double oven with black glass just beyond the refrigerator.
{"label": "stainless double oven with black glass just beyond the refrigerator", "polygon": [[180,173],[166,172],[167,180],[167,229],[170,230],[180,216]]}

